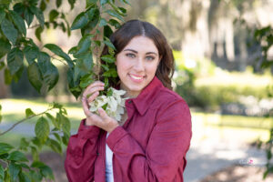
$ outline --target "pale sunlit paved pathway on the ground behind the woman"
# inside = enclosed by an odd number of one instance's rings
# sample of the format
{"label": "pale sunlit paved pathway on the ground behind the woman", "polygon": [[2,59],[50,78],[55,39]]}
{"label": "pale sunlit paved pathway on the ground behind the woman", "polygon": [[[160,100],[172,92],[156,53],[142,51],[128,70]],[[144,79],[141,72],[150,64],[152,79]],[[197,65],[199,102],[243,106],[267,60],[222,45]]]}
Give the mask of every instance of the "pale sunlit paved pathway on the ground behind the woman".
{"label": "pale sunlit paved pathway on the ground behind the woman", "polygon": [[[10,126],[12,124],[8,122],[1,123],[0,130],[5,131]],[[15,126],[12,132],[35,136],[34,130],[34,125],[23,123]],[[76,133],[76,130],[72,133]],[[244,139],[248,137],[244,135],[246,134],[242,130],[219,131],[218,128],[197,126],[197,123],[193,123],[193,137],[184,172],[185,182],[198,182],[207,175],[234,164],[262,167],[266,163],[265,152],[249,147]]]}

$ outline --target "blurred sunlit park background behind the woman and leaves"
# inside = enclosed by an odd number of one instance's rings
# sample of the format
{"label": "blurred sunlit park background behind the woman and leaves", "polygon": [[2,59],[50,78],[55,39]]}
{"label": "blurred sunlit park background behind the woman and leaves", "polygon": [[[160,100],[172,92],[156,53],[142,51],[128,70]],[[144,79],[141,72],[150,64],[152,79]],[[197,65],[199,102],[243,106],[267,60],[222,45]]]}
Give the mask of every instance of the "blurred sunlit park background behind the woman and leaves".
{"label": "blurred sunlit park background behind the woman and leaves", "polygon": [[[190,106],[193,136],[187,153],[186,182],[262,181],[272,144],[273,127],[272,66],[263,66],[265,41],[256,36],[264,27],[273,26],[272,0],[136,0],[131,1],[126,20],[141,19],[156,25],[167,36],[174,50],[175,91]],[[54,4],[52,4],[54,5]],[[69,12],[71,23],[85,8],[80,1]],[[261,30],[262,31],[262,30]],[[272,32],[271,32],[272,33]],[[37,45],[56,43],[66,52],[76,45],[78,32],[67,36],[61,30],[47,30]],[[271,39],[266,41],[273,42]],[[267,50],[273,58],[273,46]],[[73,132],[84,117],[80,103],[67,88],[66,68],[59,62],[60,78],[48,94],[39,95],[29,84],[26,73],[17,83],[5,85],[0,71],[0,104],[5,130],[24,118],[25,108],[36,113],[53,101],[64,104]],[[32,120],[1,136],[0,141],[18,143],[21,136],[34,135]],[[268,152],[269,151],[269,152]],[[46,160],[59,157],[48,154]],[[49,156],[49,157],[48,157]],[[66,181],[63,165],[52,159],[56,181]],[[273,181],[268,175],[265,181]]]}

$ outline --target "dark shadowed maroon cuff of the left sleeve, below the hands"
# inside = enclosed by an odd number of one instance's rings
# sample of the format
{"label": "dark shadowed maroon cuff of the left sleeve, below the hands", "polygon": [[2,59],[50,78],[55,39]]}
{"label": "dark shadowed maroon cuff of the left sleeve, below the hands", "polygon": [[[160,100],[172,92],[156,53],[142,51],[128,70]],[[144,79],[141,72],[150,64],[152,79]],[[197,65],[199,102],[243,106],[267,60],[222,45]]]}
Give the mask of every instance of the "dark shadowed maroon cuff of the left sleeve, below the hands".
{"label": "dark shadowed maroon cuff of the left sleeve, below the hands", "polygon": [[83,119],[77,131],[78,137],[83,139],[89,139],[98,136],[100,128],[97,126],[85,126],[85,123],[86,119]]}

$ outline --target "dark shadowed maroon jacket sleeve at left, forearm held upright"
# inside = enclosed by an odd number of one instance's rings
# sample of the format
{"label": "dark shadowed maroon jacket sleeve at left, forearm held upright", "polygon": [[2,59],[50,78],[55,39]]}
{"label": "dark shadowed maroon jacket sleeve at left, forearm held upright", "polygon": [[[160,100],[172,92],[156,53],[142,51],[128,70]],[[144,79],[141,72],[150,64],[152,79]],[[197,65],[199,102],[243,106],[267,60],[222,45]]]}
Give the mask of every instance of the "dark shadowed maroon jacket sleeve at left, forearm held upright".
{"label": "dark shadowed maroon jacket sleeve at left, forearm held upright", "polygon": [[70,182],[94,180],[99,131],[100,128],[97,126],[85,126],[84,119],[78,133],[70,136],[65,161],[66,176]]}

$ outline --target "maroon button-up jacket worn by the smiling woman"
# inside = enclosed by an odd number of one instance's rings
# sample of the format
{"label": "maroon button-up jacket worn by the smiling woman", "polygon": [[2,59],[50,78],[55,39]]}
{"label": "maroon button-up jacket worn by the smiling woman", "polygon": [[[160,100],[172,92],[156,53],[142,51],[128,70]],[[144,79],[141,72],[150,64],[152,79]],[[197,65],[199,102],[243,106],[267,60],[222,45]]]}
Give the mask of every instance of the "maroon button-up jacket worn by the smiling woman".
{"label": "maroon button-up jacket worn by the smiling woman", "polygon": [[113,151],[115,182],[183,182],[190,146],[187,103],[157,76],[133,99],[126,100],[128,119],[106,139],[106,131],[81,122],[66,151],[69,181],[106,181],[106,143]]}

